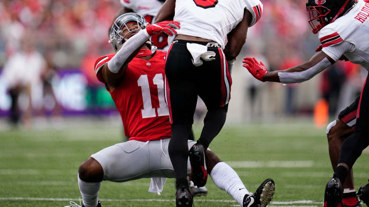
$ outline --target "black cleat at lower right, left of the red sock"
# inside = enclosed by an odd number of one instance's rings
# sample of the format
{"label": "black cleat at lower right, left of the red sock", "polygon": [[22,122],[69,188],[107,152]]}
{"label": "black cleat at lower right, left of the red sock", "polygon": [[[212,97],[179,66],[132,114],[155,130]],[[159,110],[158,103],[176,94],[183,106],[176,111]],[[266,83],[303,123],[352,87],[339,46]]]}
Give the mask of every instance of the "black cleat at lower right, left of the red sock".
{"label": "black cleat at lower right, left of the red sock", "polygon": [[338,178],[331,178],[325,186],[323,207],[340,207],[342,195],[341,181]]}

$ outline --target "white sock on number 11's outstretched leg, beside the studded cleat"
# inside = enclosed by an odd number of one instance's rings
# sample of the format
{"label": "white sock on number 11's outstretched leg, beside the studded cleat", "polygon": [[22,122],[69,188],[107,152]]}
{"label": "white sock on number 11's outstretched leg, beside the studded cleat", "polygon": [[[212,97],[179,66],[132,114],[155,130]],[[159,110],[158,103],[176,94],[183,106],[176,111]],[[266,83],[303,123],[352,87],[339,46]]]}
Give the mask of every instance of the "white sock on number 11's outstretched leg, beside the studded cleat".
{"label": "white sock on number 11's outstretched leg, beside the studded cleat", "polygon": [[218,188],[227,191],[241,206],[244,195],[250,194],[236,171],[226,163],[217,163],[211,171],[210,177]]}

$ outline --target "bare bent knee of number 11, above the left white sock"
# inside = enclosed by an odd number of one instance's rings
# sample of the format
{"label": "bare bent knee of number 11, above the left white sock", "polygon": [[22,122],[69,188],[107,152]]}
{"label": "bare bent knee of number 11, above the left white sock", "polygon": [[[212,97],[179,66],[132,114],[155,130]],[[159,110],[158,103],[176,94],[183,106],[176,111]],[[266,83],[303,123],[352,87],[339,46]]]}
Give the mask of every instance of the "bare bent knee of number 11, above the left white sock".
{"label": "bare bent knee of number 11, above the left white sock", "polygon": [[100,182],[103,181],[104,170],[94,158],[89,157],[79,166],[78,175],[85,182]]}

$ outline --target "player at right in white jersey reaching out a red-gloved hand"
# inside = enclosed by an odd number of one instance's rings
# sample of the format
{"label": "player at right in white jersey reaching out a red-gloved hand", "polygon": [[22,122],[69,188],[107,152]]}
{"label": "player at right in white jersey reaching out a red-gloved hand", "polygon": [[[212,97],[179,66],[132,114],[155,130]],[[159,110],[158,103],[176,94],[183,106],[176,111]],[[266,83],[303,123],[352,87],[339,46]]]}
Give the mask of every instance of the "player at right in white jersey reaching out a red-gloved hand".
{"label": "player at right in white jersey reaching out a red-gloved hand", "polygon": [[[303,82],[341,59],[369,69],[367,1],[309,0],[306,10],[310,13],[309,23],[313,33],[319,33],[321,45],[317,54],[306,63],[276,72],[268,72],[261,62],[247,57],[243,60],[243,66],[255,78],[281,83]],[[360,206],[355,195],[352,167],[362,150],[369,145],[368,106],[369,82],[365,81],[361,96],[327,127],[329,151],[335,173],[327,182],[324,206]]]}

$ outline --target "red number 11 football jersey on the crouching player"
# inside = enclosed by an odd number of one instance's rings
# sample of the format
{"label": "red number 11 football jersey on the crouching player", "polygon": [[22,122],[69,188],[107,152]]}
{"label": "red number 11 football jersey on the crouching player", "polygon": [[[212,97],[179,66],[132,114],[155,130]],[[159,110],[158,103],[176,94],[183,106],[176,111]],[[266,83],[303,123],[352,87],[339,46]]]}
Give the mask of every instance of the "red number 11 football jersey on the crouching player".
{"label": "red number 11 football jersey on the crouching player", "polygon": [[[150,60],[133,58],[119,86],[109,91],[130,140],[145,142],[171,137],[164,95],[166,54],[156,51]],[[114,55],[105,55],[96,60],[95,72],[103,83],[100,68]]]}

